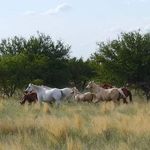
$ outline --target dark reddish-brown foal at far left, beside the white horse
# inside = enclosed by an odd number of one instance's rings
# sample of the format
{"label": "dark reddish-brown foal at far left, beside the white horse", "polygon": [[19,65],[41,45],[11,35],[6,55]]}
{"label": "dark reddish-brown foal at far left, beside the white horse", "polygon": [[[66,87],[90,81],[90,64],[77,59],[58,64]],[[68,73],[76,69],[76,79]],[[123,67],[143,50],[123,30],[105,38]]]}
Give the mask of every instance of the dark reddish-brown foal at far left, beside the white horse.
{"label": "dark reddish-brown foal at far left, beside the white horse", "polygon": [[34,103],[37,102],[37,94],[35,92],[24,93],[24,96],[23,96],[20,104],[23,105],[23,104],[25,104],[26,101],[29,104],[31,104],[32,102],[34,102]]}

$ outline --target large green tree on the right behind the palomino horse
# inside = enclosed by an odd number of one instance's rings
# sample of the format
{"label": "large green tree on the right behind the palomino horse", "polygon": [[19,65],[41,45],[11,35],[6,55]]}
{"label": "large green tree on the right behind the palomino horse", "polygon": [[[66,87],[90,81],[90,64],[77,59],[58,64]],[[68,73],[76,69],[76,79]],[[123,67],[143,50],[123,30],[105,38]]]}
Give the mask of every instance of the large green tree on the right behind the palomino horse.
{"label": "large green tree on the right behind the palomino horse", "polygon": [[121,33],[116,40],[98,43],[98,48],[91,59],[102,80],[120,85],[150,82],[150,34]]}

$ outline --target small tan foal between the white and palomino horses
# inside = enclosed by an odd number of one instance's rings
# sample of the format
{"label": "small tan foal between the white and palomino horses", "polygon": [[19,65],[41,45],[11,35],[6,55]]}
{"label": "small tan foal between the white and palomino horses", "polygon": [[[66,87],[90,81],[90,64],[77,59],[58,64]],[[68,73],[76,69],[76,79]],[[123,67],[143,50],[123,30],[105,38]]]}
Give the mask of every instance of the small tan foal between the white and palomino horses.
{"label": "small tan foal between the white and palomino horses", "polygon": [[74,98],[77,102],[92,102],[96,95],[91,92],[80,93],[76,87],[73,87]]}

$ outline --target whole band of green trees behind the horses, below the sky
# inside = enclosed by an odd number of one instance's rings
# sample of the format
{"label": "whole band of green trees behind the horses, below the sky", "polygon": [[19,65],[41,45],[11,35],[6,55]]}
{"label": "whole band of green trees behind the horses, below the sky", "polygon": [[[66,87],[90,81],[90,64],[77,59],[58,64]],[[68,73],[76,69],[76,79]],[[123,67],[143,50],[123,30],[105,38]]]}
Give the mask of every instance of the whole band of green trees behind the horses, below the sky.
{"label": "whole band of green trees behind the horses, below the sky", "polygon": [[[72,58],[71,46],[37,32],[28,39],[12,37],[0,42],[0,91],[12,96],[29,82],[50,87],[77,86],[88,80],[116,86],[150,89],[150,34],[121,33],[118,39],[97,43],[87,60]],[[146,83],[146,89],[143,84]]]}

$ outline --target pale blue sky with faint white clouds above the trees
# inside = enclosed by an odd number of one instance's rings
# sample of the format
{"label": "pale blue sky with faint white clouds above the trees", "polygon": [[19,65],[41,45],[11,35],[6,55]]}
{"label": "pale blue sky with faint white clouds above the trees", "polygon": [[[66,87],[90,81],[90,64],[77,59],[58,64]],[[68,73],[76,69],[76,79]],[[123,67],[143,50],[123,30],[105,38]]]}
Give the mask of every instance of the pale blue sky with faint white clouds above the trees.
{"label": "pale blue sky with faint white clouds above the trees", "polygon": [[150,0],[0,0],[0,39],[39,31],[71,45],[72,57],[87,59],[97,42],[149,32],[149,14]]}

